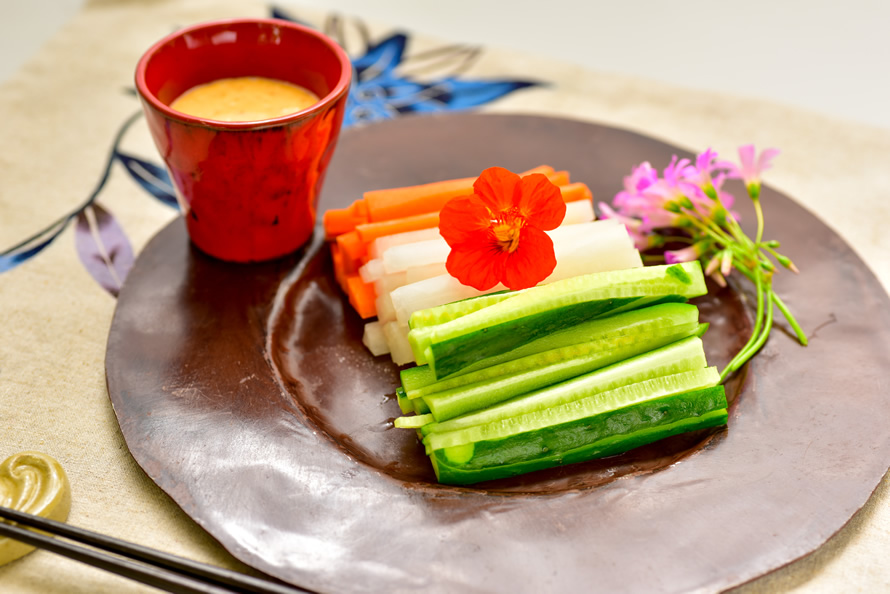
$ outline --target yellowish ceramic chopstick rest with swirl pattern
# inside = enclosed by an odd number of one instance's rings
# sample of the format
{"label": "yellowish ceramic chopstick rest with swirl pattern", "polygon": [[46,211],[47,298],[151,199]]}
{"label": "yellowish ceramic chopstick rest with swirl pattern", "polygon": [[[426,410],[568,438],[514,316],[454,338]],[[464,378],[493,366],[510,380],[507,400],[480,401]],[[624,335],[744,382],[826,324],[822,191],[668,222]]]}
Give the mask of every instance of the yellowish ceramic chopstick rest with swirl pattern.
{"label": "yellowish ceramic chopstick rest with swirl pattern", "polygon": [[[68,476],[62,465],[46,454],[14,454],[0,464],[0,505],[64,522],[71,511]],[[31,545],[0,537],[0,565],[32,550]]]}

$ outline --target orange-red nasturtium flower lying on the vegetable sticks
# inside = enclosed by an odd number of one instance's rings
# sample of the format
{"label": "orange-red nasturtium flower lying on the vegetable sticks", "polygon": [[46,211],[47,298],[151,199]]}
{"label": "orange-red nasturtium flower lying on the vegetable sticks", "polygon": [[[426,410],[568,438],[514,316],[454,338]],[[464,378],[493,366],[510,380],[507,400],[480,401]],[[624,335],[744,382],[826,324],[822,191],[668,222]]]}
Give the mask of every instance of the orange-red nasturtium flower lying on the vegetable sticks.
{"label": "orange-red nasturtium flower lying on the vegetable sticks", "polygon": [[533,287],[556,266],[544,231],[558,227],[565,214],[559,188],[545,175],[486,169],[473,194],[450,200],[439,213],[439,233],[451,247],[445,267],[480,291],[499,282],[514,290]]}

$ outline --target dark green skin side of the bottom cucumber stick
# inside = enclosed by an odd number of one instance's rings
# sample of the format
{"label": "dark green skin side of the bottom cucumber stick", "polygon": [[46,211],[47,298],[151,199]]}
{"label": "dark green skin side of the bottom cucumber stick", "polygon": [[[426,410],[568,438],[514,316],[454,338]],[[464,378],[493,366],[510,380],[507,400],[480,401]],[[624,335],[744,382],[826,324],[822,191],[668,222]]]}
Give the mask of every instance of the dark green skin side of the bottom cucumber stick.
{"label": "dark green skin side of the bottom cucumber stick", "polygon": [[468,485],[613,456],[672,435],[727,423],[723,386],[633,404],[505,439],[477,442],[472,457],[452,462],[445,450],[430,460],[440,483]]}

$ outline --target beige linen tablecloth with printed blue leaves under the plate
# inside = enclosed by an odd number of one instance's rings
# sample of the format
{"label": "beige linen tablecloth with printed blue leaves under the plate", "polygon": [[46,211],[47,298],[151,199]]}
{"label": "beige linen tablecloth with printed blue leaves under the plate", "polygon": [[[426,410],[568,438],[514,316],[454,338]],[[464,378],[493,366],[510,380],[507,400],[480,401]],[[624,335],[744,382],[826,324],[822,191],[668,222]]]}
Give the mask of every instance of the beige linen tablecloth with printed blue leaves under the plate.
{"label": "beige linen tablecloth with printed blue leaves under the plate", "polygon": [[[330,15],[298,7],[285,10],[318,26],[331,23]],[[88,4],[0,86],[0,249],[76,209],[90,194],[115,134],[139,110],[128,89],[137,59],[152,42],[197,21],[269,14],[265,3],[231,0]],[[354,20],[339,22],[347,42],[360,37],[362,29]],[[398,23],[365,25],[374,38],[391,33]],[[412,36],[410,53],[421,55],[443,44]],[[414,75],[431,75],[420,62]],[[481,108],[486,111],[601,122],[693,151],[711,146],[727,156],[748,142],[780,147],[782,155],[767,183],[818,214],[890,286],[890,131],[495,48],[483,48],[465,65],[469,69],[461,76],[550,83],[507,94]],[[455,67],[456,62],[444,68]],[[125,134],[121,148],[158,162],[144,122]],[[119,164],[112,168],[99,203],[113,213],[137,254],[177,216],[149,197]],[[0,459],[23,450],[58,459],[71,480],[72,524],[250,571],[172,503],[131,458],[105,388],[105,340],[115,299],[81,265],[73,235],[69,225],[42,253],[0,274]],[[863,510],[818,551],[741,591],[886,591],[888,552],[885,478]],[[2,592],[140,589],[43,551],[0,567]]]}

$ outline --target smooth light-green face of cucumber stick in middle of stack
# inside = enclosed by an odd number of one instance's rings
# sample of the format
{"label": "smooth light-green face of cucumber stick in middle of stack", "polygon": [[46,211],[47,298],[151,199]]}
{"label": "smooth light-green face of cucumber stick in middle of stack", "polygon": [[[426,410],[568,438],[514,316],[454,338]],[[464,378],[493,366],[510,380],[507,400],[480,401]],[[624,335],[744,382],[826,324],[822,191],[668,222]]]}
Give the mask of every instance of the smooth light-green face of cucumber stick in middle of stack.
{"label": "smooth light-green face of cucumber stick in middle of stack", "polygon": [[694,329],[695,327],[690,327],[688,330],[649,340],[621,337],[623,341],[610,341],[610,348],[594,351],[587,356],[540,365],[512,375],[502,375],[491,380],[423,395],[421,398],[426,402],[436,421],[442,422],[658,349],[691,336]]}

